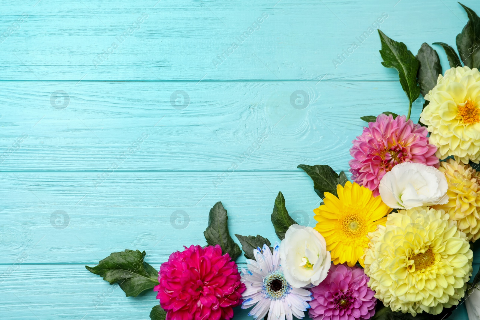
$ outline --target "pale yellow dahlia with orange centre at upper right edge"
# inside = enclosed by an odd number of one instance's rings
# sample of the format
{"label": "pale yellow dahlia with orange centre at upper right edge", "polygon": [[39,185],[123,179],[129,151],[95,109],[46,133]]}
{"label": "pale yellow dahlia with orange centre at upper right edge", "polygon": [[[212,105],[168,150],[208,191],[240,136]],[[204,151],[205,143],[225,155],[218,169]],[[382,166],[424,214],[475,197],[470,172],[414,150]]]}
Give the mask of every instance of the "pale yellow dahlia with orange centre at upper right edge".
{"label": "pale yellow dahlia with orange centre at upper right edge", "polygon": [[430,143],[445,159],[454,155],[465,164],[480,160],[480,72],[456,67],[438,76],[437,85],[425,95],[429,100],[420,115],[428,126]]}

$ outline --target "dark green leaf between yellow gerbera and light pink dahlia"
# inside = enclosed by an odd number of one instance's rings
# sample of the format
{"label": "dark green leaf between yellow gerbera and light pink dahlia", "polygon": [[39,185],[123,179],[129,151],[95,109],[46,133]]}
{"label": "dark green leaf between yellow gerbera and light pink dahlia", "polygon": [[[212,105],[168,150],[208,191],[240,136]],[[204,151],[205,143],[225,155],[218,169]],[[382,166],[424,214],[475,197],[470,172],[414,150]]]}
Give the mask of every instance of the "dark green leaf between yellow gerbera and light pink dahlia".
{"label": "dark green leaf between yellow gerbera and light pink dahlia", "polygon": [[324,192],[330,192],[335,196],[338,196],[336,193],[337,185],[345,185],[345,182],[348,181],[345,172],[340,172],[340,175],[337,175],[336,172],[327,165],[299,165],[297,168],[303,169],[310,178],[313,180],[313,189],[322,199],[325,198]]}

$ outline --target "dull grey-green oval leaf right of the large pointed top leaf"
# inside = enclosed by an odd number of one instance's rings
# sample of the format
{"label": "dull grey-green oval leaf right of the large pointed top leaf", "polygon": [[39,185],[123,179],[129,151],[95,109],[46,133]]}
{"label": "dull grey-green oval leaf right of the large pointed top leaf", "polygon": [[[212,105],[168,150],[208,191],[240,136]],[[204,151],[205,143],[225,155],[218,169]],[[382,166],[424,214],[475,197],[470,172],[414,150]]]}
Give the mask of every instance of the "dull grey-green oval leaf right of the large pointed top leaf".
{"label": "dull grey-green oval leaf right of the large pointed top leaf", "polygon": [[442,74],[442,65],[437,51],[427,43],[422,43],[416,58],[420,62],[417,74],[420,93],[424,96],[437,84],[438,75]]}

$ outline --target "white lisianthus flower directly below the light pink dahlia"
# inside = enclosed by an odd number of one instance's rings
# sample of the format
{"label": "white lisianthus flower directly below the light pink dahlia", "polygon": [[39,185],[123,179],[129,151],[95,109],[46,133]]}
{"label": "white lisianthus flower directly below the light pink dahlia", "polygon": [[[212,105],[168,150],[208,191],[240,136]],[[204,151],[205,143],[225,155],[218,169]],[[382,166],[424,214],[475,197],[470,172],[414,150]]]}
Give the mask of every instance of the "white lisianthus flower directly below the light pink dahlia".
{"label": "white lisianthus flower directly below the light pink dahlia", "polygon": [[382,201],[397,209],[445,204],[448,202],[447,189],[447,180],[440,170],[413,162],[394,166],[378,187]]}

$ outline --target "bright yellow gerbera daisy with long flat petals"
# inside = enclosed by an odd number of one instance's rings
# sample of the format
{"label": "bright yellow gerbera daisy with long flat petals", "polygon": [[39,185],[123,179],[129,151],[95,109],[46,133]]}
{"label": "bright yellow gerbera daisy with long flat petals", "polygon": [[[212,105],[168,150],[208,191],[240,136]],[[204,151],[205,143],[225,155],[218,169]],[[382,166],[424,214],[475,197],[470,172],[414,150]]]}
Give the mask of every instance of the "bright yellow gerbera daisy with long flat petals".
{"label": "bright yellow gerbera daisy with long flat petals", "polygon": [[324,204],[314,209],[315,229],[324,236],[334,264],[357,261],[363,266],[363,250],[368,247],[367,234],[377,225],[385,225],[385,215],[392,211],[380,196],[357,183],[348,181],[336,186],[338,198],[325,192]]}

